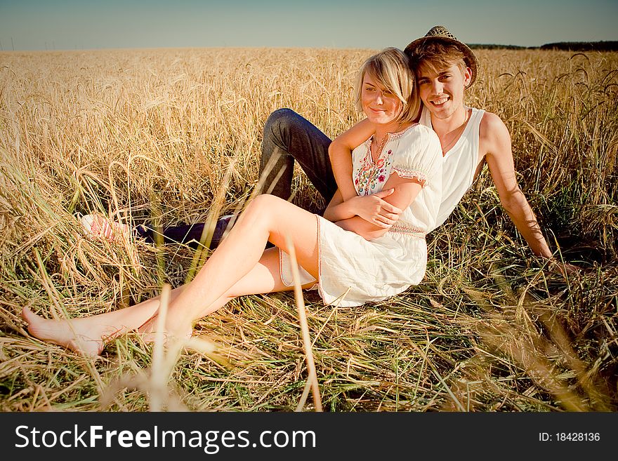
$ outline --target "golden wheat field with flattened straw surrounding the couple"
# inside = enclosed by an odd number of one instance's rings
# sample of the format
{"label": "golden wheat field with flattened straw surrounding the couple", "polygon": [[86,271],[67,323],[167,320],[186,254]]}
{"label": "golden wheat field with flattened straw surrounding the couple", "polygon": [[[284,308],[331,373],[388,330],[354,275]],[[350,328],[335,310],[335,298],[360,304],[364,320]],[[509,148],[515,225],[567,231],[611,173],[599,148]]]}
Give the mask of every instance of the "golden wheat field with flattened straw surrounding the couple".
{"label": "golden wheat field with flattened straw surrounding the couple", "polygon": [[[354,76],[375,51],[0,53],[0,410],[618,410],[618,53],[478,50],[466,93],[505,121],[520,187],[576,274],[534,257],[483,171],[428,236],[423,283],[390,300],[247,296],[191,347],[131,333],[97,360],[27,334],[24,306],[109,312],[195,264],[186,246],[91,241],[80,213],[173,225],[239,208],[268,114],[290,107],[334,138],[361,119]],[[300,170],[294,189],[321,206]]]}

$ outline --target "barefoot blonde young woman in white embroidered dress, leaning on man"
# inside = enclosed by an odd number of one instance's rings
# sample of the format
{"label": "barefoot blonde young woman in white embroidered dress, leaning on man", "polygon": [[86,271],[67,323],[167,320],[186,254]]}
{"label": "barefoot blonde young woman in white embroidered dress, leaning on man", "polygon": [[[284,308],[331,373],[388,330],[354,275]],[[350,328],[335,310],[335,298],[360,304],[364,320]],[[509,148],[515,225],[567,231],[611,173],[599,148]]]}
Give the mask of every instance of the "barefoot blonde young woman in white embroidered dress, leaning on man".
{"label": "barefoot blonde young woman in white embroidered dress, leaning on man", "polygon": [[[317,288],[326,304],[362,305],[420,283],[424,236],[435,227],[441,201],[440,140],[414,122],[419,95],[407,57],[397,48],[364,62],[355,93],[357,108],[374,126],[353,152],[357,196],[343,201],[336,192],[324,217],[276,196],[257,196],[195,279],[171,291],[166,335],[191,335],[197,319],[238,296],[291,290],[289,241],[303,288]],[[380,212],[372,213],[376,208]],[[375,218],[360,218],[367,214]],[[264,250],[268,241],[274,247]],[[159,298],[152,298],[84,318],[48,320],[27,308],[22,317],[34,337],[96,355],[130,330],[152,333],[158,308]]]}

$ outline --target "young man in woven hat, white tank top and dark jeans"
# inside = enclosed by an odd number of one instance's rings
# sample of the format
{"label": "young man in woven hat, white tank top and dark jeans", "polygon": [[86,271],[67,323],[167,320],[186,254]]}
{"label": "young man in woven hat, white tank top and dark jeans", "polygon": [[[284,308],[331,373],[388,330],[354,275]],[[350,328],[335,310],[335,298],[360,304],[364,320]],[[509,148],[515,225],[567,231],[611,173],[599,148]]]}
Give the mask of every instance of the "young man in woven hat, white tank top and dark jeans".
{"label": "young man in woven hat, white tank top and dark jeans", "polygon": [[[478,72],[478,59],[471,48],[445,27],[435,26],[412,41],[405,53],[415,69],[423,102],[419,123],[438,134],[444,156],[444,189],[436,226],[447,220],[486,162],[501,204],[515,227],[534,254],[553,259],[530,204],[517,184],[511,137],[504,122],[496,114],[464,105],[466,88],[474,83]],[[326,203],[338,190],[344,201],[355,198],[362,203],[357,213],[364,220],[382,227],[393,225],[401,211],[383,200],[388,192],[359,200],[350,180],[351,151],[372,133],[371,123],[364,120],[331,142],[291,109],[272,112],[263,131],[263,191],[270,190],[271,194],[288,199],[296,160]],[[221,241],[229,221],[230,217],[218,220],[211,248]],[[165,241],[186,243],[199,241],[203,229],[203,224],[168,227],[163,234]],[[140,227],[138,234],[152,239],[152,228]],[[574,267],[566,265],[565,269],[571,272]]]}

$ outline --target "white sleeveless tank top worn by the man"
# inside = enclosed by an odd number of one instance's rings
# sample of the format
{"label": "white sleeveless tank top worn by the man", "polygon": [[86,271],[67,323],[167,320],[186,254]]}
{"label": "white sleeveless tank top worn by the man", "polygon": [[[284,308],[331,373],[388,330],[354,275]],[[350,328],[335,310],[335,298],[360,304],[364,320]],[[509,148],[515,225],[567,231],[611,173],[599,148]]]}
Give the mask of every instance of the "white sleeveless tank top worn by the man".
{"label": "white sleeveless tank top worn by the man", "polygon": [[[435,227],[442,225],[453,212],[457,203],[472,186],[478,164],[478,131],[485,111],[472,108],[472,115],[459,140],[444,154],[442,163],[442,202],[438,210]],[[431,126],[430,112],[423,107],[421,119],[425,126]],[[435,229],[434,227],[434,229]],[[432,229],[433,230],[433,229]]]}

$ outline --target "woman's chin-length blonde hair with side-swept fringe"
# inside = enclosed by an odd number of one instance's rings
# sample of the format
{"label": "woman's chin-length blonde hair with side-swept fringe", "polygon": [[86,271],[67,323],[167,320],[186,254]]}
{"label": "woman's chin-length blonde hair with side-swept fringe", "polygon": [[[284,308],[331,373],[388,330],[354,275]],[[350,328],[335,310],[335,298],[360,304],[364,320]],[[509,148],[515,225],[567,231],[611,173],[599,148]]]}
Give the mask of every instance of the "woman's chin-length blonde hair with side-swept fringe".
{"label": "woman's chin-length blonde hair with side-swept fringe", "polygon": [[419,113],[421,101],[416,90],[414,73],[410,69],[407,55],[399,48],[384,48],[367,59],[358,72],[355,86],[356,109],[362,112],[362,81],[369,74],[402,102],[397,121],[414,121]]}

